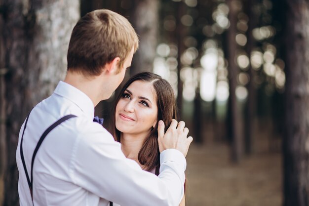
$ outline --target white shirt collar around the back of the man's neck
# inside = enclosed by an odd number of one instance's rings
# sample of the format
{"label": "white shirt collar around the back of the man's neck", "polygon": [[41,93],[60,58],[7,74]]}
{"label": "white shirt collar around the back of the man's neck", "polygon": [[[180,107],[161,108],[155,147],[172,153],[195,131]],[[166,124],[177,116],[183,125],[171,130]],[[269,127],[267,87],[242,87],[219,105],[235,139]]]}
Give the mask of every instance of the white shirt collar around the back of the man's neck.
{"label": "white shirt collar around the back of the man's neck", "polygon": [[94,117],[94,105],[91,99],[82,91],[69,83],[60,81],[54,90],[55,94],[63,96],[75,103],[87,117]]}

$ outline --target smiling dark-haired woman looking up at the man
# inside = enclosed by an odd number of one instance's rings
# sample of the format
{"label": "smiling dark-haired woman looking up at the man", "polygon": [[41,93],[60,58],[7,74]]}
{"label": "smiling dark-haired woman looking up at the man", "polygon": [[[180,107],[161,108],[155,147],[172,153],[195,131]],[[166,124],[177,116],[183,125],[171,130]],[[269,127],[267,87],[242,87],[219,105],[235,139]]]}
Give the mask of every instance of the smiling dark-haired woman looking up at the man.
{"label": "smiling dark-haired woman looking up at the man", "polygon": [[[153,73],[139,73],[124,84],[115,105],[110,132],[121,142],[122,152],[144,170],[158,175],[157,123],[162,120],[170,125],[177,119],[171,85]],[[185,197],[180,206],[185,206]]]}

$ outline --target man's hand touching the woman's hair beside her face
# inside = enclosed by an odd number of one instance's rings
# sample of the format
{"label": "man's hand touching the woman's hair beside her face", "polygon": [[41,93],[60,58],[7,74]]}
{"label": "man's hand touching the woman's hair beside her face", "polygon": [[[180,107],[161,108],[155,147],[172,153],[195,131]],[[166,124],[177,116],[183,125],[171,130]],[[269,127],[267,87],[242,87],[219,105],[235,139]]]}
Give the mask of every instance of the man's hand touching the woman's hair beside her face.
{"label": "man's hand touching the woman's hair beside her face", "polygon": [[185,122],[181,121],[178,123],[173,119],[165,134],[164,127],[163,121],[160,120],[158,123],[158,144],[160,153],[166,149],[176,149],[186,157],[193,138],[192,136],[187,138],[189,129],[185,127]]}

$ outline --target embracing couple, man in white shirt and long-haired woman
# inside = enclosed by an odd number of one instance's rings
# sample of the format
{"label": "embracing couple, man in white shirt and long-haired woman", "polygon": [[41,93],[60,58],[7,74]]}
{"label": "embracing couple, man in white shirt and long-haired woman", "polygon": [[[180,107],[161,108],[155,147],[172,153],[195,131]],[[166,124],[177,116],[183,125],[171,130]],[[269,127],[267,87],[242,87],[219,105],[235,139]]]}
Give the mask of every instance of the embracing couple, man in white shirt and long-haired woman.
{"label": "embracing couple, man in white shirt and long-haired woman", "polygon": [[175,101],[168,82],[142,73],[125,84],[111,118],[118,142],[93,122],[94,107],[123,80],[137,48],[134,29],[115,12],[96,10],[77,22],[65,80],[35,106],[20,130],[21,206],[180,204],[193,139],[184,122],[172,120]]}

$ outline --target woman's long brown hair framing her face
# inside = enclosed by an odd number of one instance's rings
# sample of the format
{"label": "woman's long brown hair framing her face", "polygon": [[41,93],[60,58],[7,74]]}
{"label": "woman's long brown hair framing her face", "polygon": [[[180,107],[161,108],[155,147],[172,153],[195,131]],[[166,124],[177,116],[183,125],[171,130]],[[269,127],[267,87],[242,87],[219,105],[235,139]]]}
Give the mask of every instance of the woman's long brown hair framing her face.
{"label": "woman's long brown hair framing her face", "polygon": [[[120,142],[120,131],[116,128],[115,124],[116,105],[118,104],[118,101],[125,89],[135,81],[152,82],[157,97],[157,120],[162,120],[164,122],[165,131],[171,124],[172,119],[177,120],[176,101],[172,86],[166,80],[162,79],[156,74],[150,72],[136,74],[135,76],[131,77],[122,87],[116,98],[112,117],[110,119],[111,121],[108,129],[114,136],[115,140],[118,142]],[[138,153],[138,161],[144,166],[144,169],[147,171],[152,171],[155,169],[156,175],[158,175],[158,169],[160,167],[160,153],[157,137],[158,133],[156,124],[145,138],[142,148]]]}

